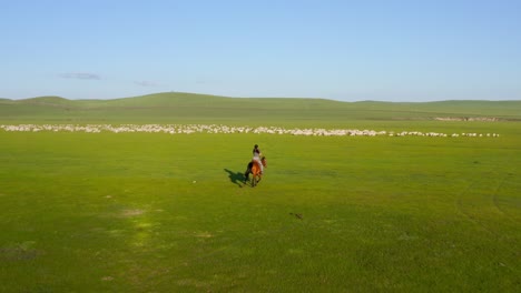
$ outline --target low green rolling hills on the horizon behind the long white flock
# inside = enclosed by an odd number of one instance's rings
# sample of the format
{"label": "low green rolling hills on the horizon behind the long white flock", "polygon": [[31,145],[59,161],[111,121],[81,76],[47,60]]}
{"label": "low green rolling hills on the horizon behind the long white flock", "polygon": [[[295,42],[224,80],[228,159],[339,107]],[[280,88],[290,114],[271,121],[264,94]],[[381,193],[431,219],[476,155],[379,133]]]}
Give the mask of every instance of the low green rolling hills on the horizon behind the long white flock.
{"label": "low green rolling hills on the horizon behind the long white flock", "polygon": [[326,99],[227,98],[165,92],[112,100],[0,99],[0,121],[39,123],[337,123],[495,118],[521,121],[521,101],[341,102]]}

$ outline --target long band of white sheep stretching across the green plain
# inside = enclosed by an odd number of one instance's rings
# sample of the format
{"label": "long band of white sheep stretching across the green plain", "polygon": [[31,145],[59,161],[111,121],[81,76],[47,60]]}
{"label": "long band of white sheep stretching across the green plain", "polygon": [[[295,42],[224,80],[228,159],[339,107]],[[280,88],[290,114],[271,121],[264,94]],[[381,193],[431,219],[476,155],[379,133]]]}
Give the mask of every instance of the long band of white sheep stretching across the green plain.
{"label": "long band of white sheep stretching across the green plain", "polygon": [[420,131],[375,131],[375,130],[356,130],[356,129],[284,129],[277,127],[227,127],[227,125],[204,125],[204,124],[122,124],[122,125],[110,125],[110,124],[90,124],[90,125],[71,125],[71,124],[19,124],[19,125],[0,125],[0,130],[3,131],[68,131],[68,132],[88,132],[99,133],[102,131],[109,131],[114,133],[124,132],[148,132],[148,133],[169,133],[169,134],[190,134],[190,133],[268,133],[268,134],[291,134],[291,135],[321,135],[321,137],[341,137],[341,135],[363,135],[363,137],[376,137],[376,135],[389,135],[389,137],[492,137],[498,138],[497,133],[438,133],[438,132],[420,132]]}

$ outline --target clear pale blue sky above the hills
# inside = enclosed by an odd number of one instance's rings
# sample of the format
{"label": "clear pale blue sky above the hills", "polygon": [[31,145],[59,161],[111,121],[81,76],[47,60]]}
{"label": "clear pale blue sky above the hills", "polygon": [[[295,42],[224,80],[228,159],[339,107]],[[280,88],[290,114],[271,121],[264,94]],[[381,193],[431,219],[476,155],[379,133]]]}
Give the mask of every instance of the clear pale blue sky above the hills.
{"label": "clear pale blue sky above the hills", "polygon": [[0,0],[0,98],[521,100],[520,0]]}

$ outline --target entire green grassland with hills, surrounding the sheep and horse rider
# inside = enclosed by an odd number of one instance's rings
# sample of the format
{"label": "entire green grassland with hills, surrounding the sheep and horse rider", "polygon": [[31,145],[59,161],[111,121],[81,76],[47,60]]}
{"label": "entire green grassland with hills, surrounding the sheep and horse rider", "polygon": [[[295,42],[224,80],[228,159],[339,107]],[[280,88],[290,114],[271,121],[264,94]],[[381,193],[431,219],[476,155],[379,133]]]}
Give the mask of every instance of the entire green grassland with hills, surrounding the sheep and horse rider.
{"label": "entire green grassland with hills, surrounding the sheep and horse rider", "polygon": [[[0,100],[0,124],[22,123],[500,137],[0,129],[0,292],[521,289],[520,101]],[[242,173],[255,143],[268,166],[250,188]]]}

